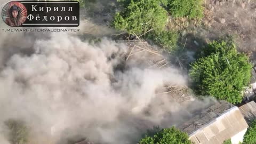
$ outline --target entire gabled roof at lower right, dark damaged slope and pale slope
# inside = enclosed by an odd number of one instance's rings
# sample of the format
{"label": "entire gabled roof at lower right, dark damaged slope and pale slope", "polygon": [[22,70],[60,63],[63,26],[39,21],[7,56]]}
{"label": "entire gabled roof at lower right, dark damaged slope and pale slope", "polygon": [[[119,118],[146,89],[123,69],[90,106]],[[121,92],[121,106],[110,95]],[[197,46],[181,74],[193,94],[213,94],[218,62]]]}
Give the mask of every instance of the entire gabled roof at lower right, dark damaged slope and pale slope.
{"label": "entire gabled roof at lower right, dark damaged slope and pale slope", "polygon": [[179,126],[193,143],[222,143],[248,125],[238,107],[220,101]]}

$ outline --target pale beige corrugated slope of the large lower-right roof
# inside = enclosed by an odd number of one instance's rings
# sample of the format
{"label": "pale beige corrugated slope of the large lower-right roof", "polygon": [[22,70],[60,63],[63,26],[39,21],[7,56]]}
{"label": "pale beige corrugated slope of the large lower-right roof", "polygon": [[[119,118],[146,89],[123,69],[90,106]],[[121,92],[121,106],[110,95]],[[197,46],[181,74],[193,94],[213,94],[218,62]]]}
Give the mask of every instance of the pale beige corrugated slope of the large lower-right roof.
{"label": "pale beige corrugated slope of the large lower-right roof", "polygon": [[248,125],[237,107],[223,111],[219,117],[213,119],[203,127],[189,135],[193,143],[222,143],[237,133],[247,129]]}

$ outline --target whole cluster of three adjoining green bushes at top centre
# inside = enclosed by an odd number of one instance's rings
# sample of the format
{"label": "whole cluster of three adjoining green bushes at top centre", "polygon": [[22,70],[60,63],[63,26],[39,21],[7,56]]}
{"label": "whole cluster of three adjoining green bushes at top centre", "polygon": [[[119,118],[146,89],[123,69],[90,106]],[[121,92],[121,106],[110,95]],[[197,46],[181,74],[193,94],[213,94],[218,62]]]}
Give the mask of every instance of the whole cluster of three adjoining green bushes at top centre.
{"label": "whole cluster of three adjoining green bushes at top centre", "polygon": [[167,11],[173,17],[202,18],[202,0],[117,0],[124,8],[117,12],[113,27],[130,35],[147,33],[147,38],[167,52],[177,48],[178,33],[165,31]]}

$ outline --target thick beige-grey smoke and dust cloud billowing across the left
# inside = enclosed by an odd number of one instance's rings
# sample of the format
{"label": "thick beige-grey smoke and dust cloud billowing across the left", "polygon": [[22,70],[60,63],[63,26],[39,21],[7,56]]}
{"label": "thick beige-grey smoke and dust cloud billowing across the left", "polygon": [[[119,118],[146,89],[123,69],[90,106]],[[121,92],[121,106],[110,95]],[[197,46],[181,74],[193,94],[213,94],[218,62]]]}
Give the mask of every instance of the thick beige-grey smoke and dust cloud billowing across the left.
{"label": "thick beige-grey smoke and dust cloud billowing across the left", "polygon": [[[30,141],[65,143],[87,137],[130,144],[154,125],[170,127],[189,117],[192,106],[155,94],[165,82],[186,85],[177,69],[114,70],[121,58],[113,54],[127,51],[123,44],[104,38],[90,45],[60,33],[14,34],[1,40],[1,127],[7,119],[22,119],[33,132]],[[7,137],[1,130],[3,143]]]}

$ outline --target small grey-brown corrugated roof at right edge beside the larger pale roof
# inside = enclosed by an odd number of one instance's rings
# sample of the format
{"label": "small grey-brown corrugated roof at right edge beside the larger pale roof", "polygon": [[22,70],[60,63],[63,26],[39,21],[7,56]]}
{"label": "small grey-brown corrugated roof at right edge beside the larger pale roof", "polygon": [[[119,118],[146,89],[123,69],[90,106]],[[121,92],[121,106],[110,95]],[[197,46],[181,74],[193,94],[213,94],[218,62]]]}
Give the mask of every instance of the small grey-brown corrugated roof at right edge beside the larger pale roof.
{"label": "small grey-brown corrugated roof at right edge beside the larger pale roof", "polygon": [[254,119],[256,119],[256,103],[254,101],[246,103],[245,105],[239,107],[239,109],[247,123],[251,123]]}

